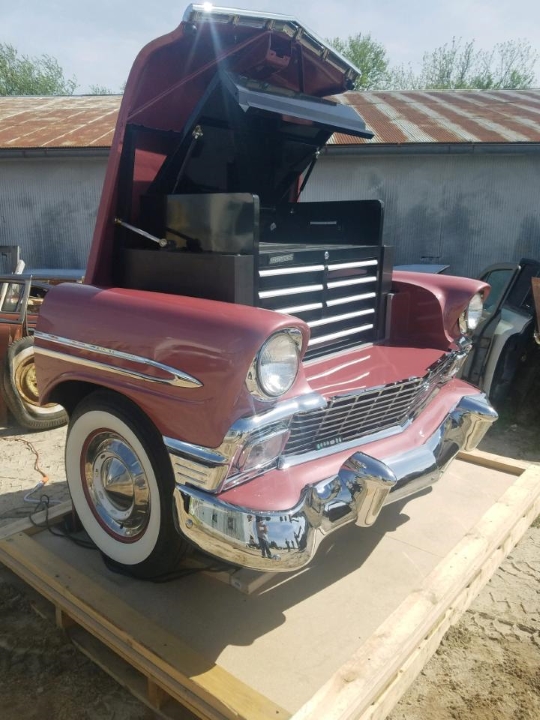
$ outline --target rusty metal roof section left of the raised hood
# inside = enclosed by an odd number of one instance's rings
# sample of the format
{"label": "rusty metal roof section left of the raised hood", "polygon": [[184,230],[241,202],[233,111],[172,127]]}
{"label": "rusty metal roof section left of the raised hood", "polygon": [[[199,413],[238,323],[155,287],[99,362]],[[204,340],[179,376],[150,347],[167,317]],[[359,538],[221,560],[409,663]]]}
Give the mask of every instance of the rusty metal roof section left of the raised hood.
{"label": "rusty metal roof section left of the raised hood", "polygon": [[110,147],[120,99],[0,97],[0,148]]}

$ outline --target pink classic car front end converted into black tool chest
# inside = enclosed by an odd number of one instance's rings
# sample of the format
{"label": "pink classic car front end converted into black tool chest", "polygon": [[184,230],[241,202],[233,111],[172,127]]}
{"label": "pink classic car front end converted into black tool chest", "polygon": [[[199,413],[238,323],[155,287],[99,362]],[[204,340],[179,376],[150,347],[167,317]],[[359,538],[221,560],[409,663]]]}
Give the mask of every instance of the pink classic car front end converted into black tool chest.
{"label": "pink classic car front end converted into black tool chest", "polygon": [[371,137],[327,99],[356,76],[294,19],[198,5],[135,61],[85,281],[35,333],[76,512],[135,575],[302,567],[496,418],[456,378],[489,286],[392,273],[376,200],[300,201],[334,132]]}

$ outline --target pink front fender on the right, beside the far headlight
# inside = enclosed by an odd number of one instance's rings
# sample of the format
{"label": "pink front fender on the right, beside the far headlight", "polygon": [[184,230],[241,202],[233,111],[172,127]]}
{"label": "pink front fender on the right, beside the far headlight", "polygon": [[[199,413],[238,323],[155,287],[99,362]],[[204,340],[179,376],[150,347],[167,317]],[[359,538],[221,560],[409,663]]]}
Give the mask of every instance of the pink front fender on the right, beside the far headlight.
{"label": "pink front fender on the right, beside the far headlight", "polygon": [[489,285],[451,275],[395,270],[392,275],[391,340],[445,350],[460,336],[459,316]]}

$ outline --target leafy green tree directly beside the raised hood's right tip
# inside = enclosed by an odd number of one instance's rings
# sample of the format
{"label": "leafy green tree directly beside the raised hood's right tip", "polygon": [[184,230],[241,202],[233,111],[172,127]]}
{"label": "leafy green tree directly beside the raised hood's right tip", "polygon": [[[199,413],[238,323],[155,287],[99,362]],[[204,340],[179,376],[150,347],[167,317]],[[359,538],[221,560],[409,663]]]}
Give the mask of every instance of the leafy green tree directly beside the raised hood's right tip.
{"label": "leafy green tree directly beside the raised hood's right tip", "polygon": [[350,35],[346,40],[334,38],[328,42],[360,71],[355,90],[383,90],[388,86],[389,61],[386,49],[369,33]]}

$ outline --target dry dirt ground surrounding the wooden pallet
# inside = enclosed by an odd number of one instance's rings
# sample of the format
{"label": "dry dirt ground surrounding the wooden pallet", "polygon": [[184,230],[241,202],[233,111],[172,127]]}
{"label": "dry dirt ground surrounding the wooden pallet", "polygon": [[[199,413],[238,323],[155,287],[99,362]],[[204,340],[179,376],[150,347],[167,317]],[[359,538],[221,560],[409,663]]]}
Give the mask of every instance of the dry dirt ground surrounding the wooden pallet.
{"label": "dry dirt ground surrounding the wooden pallet", "polygon": [[[52,502],[67,499],[64,437],[64,429],[27,435],[14,427],[0,429],[0,532],[27,515],[43,492]],[[540,462],[538,414],[506,413],[481,448]],[[43,487],[37,486],[40,470],[47,476]],[[25,586],[0,566],[2,720],[152,717],[35,608]],[[464,717],[540,717],[539,520],[448,632],[390,719]]]}

